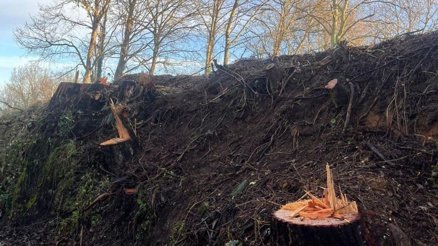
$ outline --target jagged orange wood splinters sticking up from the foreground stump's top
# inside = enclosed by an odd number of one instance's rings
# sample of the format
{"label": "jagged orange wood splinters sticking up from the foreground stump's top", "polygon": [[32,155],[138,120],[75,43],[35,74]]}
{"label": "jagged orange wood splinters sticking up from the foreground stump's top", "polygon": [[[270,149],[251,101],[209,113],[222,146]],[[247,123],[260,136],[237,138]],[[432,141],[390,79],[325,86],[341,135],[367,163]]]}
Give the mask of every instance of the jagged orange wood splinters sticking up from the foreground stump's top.
{"label": "jagged orange wood splinters sticking up from the foreground stump's top", "polygon": [[327,188],[324,189],[324,196],[318,198],[306,191],[306,194],[312,199],[299,200],[296,202],[288,203],[282,206],[281,209],[291,210],[290,217],[294,218],[300,216],[300,219],[323,219],[323,218],[337,218],[345,219],[344,214],[355,213],[357,214],[356,202],[349,202],[347,196],[340,190],[340,198],[336,198],[334,191],[333,178],[331,176],[331,170],[329,165],[326,165],[327,169]]}

